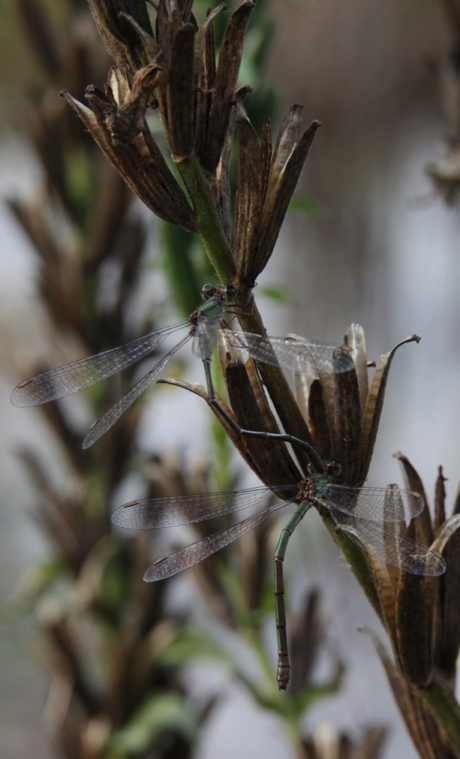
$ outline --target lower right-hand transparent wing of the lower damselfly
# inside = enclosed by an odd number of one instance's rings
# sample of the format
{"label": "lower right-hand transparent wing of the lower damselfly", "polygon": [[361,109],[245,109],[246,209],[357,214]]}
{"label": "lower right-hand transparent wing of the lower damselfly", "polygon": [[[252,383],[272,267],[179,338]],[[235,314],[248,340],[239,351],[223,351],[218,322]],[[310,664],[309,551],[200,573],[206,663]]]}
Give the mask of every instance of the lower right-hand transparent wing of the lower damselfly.
{"label": "lower right-hand transparent wing of the lower damselfly", "polygon": [[446,562],[438,551],[400,535],[390,527],[345,514],[338,516],[335,513],[335,516],[339,524],[350,528],[346,532],[351,538],[355,532],[358,542],[362,541],[368,551],[385,564],[423,577],[437,577],[446,571]]}

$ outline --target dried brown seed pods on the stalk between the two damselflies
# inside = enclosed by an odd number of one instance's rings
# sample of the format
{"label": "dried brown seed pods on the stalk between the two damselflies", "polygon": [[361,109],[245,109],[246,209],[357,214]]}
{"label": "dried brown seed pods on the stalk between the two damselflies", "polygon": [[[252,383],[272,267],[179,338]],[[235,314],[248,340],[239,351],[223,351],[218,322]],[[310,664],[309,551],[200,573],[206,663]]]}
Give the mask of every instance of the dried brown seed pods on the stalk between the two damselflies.
{"label": "dried brown seed pods on the stalk between the two damselflies", "polygon": [[[254,337],[254,340],[258,339]],[[294,371],[297,412],[304,425],[304,432],[297,435],[297,432],[286,426],[281,418],[284,431],[301,437],[312,445],[323,461],[339,463],[343,484],[356,486],[364,483],[377,436],[393,357],[401,345],[418,340],[416,335],[412,335],[398,343],[389,353],[380,356],[370,380],[364,331],[359,325],[352,324],[342,345],[324,346],[324,360],[312,358],[307,363],[302,361],[298,370]],[[303,338],[291,335],[289,344],[293,350],[298,347],[302,355],[303,351],[308,355],[309,343]],[[322,350],[321,344],[318,350]],[[246,430],[280,432],[264,396],[261,377],[255,370],[253,361],[249,359],[243,363],[241,353],[229,344],[225,346],[222,361],[231,406],[227,411],[238,426]],[[243,382],[248,385],[244,390]],[[276,410],[280,414],[278,407]],[[260,419],[255,418],[257,414]],[[273,460],[281,462],[282,459],[271,456],[270,446],[245,437],[237,438],[235,444],[251,466],[253,461],[248,448],[260,451],[261,446],[265,446],[268,464],[265,466],[260,463],[260,455],[253,458],[259,461],[258,473],[261,479],[267,484],[273,484],[273,476],[276,474],[273,471]],[[278,445],[284,446],[284,443]],[[296,453],[302,461],[301,452]],[[291,479],[288,481],[292,482],[292,463],[289,474]]]}

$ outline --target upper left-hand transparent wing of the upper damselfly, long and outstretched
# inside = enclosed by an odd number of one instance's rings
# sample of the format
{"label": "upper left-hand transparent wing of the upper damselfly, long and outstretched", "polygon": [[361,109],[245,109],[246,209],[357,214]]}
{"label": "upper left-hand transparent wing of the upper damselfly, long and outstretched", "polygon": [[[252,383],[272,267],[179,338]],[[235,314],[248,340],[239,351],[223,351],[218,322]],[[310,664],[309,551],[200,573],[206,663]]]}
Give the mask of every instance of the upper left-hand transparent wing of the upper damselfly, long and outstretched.
{"label": "upper left-hand transparent wing of the upper damselfly, long and outstretched", "polygon": [[11,402],[15,406],[36,406],[90,387],[145,358],[168,335],[187,326],[190,325],[185,321],[165,327],[119,348],[111,348],[95,356],[72,361],[70,364],[24,380],[13,390]]}

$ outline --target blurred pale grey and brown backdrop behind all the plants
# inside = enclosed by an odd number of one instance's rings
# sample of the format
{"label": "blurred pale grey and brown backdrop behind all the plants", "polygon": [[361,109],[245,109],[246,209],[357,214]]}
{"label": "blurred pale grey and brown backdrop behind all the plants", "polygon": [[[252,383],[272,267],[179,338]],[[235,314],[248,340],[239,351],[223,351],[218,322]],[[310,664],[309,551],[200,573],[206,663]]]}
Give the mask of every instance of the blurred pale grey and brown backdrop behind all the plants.
{"label": "blurred pale grey and brown backdrop behind all the plants", "polygon": [[[42,180],[22,136],[28,118],[25,98],[39,86],[40,74],[12,5],[1,6],[0,32],[0,188],[9,199],[32,195]],[[275,24],[264,81],[277,90],[280,113],[293,102],[302,103],[305,123],[315,118],[323,126],[299,188],[312,201],[313,212],[289,214],[259,281],[260,290],[276,285],[288,297],[283,303],[258,297],[258,305],[274,335],[295,332],[340,341],[347,326],[358,322],[366,331],[370,358],[414,332],[421,336],[420,344],[402,348],[393,364],[369,484],[402,484],[392,458],[401,450],[418,469],[429,497],[437,468],[444,466],[451,503],[459,460],[460,223],[458,208],[435,191],[426,172],[427,165],[444,160],[443,138],[456,126],[447,118],[439,78],[440,62],[456,43],[448,7],[440,0],[270,3]],[[161,240],[155,221],[146,211],[140,213],[149,228],[150,262],[137,304],[142,312],[150,307],[152,288],[166,285],[156,263]],[[15,450],[24,441],[39,447],[57,487],[65,485],[66,464],[39,414],[9,402],[10,391],[23,378],[11,356],[20,366],[31,356],[48,355],[52,337],[36,293],[34,256],[4,203],[0,241],[0,586],[6,601],[48,550],[30,518],[34,494]],[[165,323],[182,318],[173,307],[167,316]],[[191,362],[188,371],[187,377],[201,381],[201,366]],[[209,425],[208,409],[199,399],[157,388],[139,428],[140,450],[147,455],[179,447],[188,455],[193,445],[192,457],[204,459],[212,448]],[[250,482],[239,466],[244,483]],[[128,491],[129,485],[118,504],[136,495]],[[381,665],[357,631],[361,623],[378,629],[377,620],[313,514],[293,540],[288,567],[293,608],[307,587],[321,588],[327,647],[338,652],[347,668],[344,689],[308,712],[306,729],[330,720],[354,734],[377,722],[390,730],[384,756],[415,757]],[[206,677],[217,689],[219,674],[210,669]],[[3,626],[2,756],[22,759],[31,751],[35,759],[50,756],[48,685],[34,659],[31,623]],[[229,684],[219,698],[197,757],[294,756],[280,724],[251,705],[247,694]]]}

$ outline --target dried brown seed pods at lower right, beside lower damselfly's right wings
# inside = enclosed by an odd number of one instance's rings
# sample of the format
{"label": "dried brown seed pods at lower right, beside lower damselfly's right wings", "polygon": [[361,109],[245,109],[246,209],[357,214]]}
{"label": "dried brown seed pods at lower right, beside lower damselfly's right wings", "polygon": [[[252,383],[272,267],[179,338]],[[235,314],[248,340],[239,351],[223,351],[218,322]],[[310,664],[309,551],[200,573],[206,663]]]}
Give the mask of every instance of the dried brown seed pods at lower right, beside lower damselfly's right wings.
{"label": "dried brown seed pods at lower right, beside lower damselfly's right wings", "polygon": [[[423,483],[408,459],[402,463],[406,485],[421,493]],[[428,508],[403,533],[442,552],[447,565],[440,577],[410,575],[369,558],[376,609],[391,641],[394,661],[373,633],[407,729],[422,757],[455,757],[460,747],[460,709],[455,701],[456,661],[460,646],[460,498],[445,516],[442,469],[435,490],[434,519]]]}

